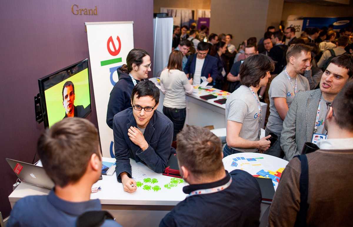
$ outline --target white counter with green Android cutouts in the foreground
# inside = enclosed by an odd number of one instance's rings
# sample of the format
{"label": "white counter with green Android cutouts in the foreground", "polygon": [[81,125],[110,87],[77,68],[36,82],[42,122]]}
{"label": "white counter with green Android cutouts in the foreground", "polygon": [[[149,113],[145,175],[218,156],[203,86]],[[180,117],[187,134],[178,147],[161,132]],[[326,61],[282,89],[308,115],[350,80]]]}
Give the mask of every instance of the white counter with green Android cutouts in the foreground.
{"label": "white counter with green Android cutouts in the foreground", "polygon": [[[112,158],[103,158],[103,161],[115,162]],[[137,188],[136,192],[128,193],[122,188],[122,184],[113,176],[103,175],[103,180],[98,180],[92,187],[101,186],[102,190],[91,194],[91,199],[98,198],[102,209],[108,210],[122,226],[158,226],[160,220],[180,201],[184,200],[182,188],[185,183],[178,184],[171,189],[164,188],[164,184],[170,182],[171,177],[155,173],[140,162],[130,161],[133,176],[134,173],[145,173],[143,178],[156,178],[158,183],[146,185],[161,187],[159,191],[143,190]],[[143,180],[143,179],[142,179]],[[29,195],[47,195],[49,190],[36,186],[20,183],[8,197],[11,207],[20,199]]]}

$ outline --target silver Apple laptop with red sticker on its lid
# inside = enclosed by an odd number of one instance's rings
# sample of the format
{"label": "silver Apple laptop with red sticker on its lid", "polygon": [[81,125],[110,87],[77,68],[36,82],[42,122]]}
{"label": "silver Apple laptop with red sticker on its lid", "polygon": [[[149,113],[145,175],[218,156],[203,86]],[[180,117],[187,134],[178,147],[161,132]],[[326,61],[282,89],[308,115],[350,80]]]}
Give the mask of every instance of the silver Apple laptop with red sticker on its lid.
{"label": "silver Apple laptop with red sticker on its lid", "polygon": [[6,161],[21,182],[49,190],[54,188],[54,182],[48,177],[43,167],[8,158]]}

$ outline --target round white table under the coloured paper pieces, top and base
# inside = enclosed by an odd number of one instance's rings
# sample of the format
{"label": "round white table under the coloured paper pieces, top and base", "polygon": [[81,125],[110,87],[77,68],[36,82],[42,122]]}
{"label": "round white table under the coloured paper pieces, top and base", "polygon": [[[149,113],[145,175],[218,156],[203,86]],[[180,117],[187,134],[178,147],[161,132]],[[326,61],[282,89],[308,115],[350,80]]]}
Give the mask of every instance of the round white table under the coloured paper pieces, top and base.
{"label": "round white table under the coloured paper pieces, top and base", "polygon": [[[234,161],[233,159],[237,159],[237,158],[240,158],[240,160],[237,161],[238,166],[237,167],[231,166],[232,161]],[[244,158],[245,160],[241,158]],[[255,158],[256,161],[248,161],[247,159],[250,159],[250,158]],[[267,154],[250,153],[250,152],[231,154],[223,158],[222,161],[225,169],[228,172],[239,169],[239,170],[244,170],[250,173],[251,175],[255,175],[255,176],[258,175],[257,173],[260,170],[270,172],[270,174],[271,173],[275,174],[276,171],[283,171],[288,164],[288,161],[281,158],[277,158]],[[273,181],[273,183],[274,183],[274,189],[276,191],[278,182]],[[261,203],[261,215],[260,215],[261,223],[267,222],[267,216],[265,217],[263,216],[263,214],[265,213],[265,211],[267,211],[269,206],[270,204],[268,203]]]}

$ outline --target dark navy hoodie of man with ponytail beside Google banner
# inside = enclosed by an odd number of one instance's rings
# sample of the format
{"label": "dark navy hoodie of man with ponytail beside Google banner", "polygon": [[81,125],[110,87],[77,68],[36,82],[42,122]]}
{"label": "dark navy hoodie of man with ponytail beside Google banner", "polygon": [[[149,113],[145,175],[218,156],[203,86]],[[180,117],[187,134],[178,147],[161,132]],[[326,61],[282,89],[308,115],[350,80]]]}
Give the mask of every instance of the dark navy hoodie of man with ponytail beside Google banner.
{"label": "dark navy hoodie of man with ponytail beside Google banner", "polygon": [[[116,82],[110,92],[107,109],[107,124],[111,129],[113,129],[114,115],[131,107],[131,93],[134,88],[128,73],[124,73],[120,69],[116,71],[118,72],[119,81]],[[136,82],[139,82],[139,80],[136,80]]]}

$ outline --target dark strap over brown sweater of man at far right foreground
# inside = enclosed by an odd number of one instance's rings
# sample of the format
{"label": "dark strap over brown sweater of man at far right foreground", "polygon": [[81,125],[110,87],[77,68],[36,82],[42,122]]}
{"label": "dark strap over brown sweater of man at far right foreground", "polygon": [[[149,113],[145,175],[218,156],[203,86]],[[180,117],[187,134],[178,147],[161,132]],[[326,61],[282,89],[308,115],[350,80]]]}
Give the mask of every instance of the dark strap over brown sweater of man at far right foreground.
{"label": "dark strap over brown sweater of man at far right foreground", "polygon": [[308,188],[309,188],[309,166],[308,160],[305,154],[296,156],[301,163],[301,173],[299,179],[299,191],[300,191],[300,208],[295,220],[295,227],[306,227],[306,216],[309,208],[308,201]]}

